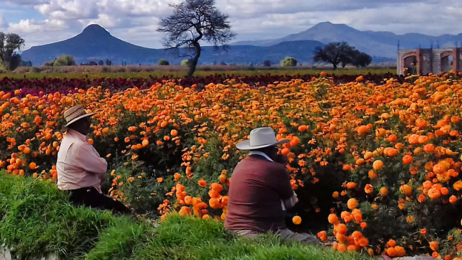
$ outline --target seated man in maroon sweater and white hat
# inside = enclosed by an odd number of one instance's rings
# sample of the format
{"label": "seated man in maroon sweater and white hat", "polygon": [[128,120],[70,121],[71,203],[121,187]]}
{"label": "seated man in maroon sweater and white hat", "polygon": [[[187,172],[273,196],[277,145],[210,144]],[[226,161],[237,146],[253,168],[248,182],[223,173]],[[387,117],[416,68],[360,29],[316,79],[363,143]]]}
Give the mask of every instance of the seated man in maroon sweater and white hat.
{"label": "seated man in maroon sweater and white hat", "polygon": [[236,145],[249,150],[232,175],[228,192],[225,227],[235,234],[255,237],[272,231],[284,239],[317,244],[310,234],[295,233],[285,226],[285,211],[297,202],[285,165],[287,157],[278,154],[277,145],[290,142],[276,140],[272,128],[253,129],[250,139]]}

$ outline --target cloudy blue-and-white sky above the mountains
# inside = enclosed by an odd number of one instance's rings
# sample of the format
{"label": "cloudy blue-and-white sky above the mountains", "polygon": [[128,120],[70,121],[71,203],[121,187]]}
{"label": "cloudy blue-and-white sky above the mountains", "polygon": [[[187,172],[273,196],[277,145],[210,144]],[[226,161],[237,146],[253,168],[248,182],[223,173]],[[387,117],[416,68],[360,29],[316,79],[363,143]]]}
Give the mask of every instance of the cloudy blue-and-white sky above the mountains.
{"label": "cloudy blue-and-white sky above the mountains", "polygon": [[[0,30],[34,45],[62,41],[89,24],[133,44],[161,47],[159,17],[181,0],[0,0]],[[216,0],[238,40],[275,39],[330,21],[359,30],[462,33],[461,0]]]}

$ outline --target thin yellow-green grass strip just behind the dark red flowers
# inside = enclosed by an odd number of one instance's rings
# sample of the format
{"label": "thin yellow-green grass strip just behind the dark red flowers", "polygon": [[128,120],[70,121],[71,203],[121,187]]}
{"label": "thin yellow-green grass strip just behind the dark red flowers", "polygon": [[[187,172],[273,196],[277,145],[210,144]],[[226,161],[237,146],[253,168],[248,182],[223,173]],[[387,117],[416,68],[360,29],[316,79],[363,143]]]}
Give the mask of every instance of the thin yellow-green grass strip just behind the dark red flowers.
{"label": "thin yellow-green grass strip just behind the dark red flowers", "polygon": [[[390,68],[366,68],[366,69],[349,69],[349,70],[321,70],[321,69],[275,69],[275,70],[216,70],[216,71],[196,71],[196,77],[205,77],[208,75],[235,75],[237,77],[243,76],[257,76],[257,75],[266,75],[270,73],[271,75],[315,75],[321,71],[325,71],[329,74],[335,73],[335,75],[365,75],[367,73],[382,75],[384,73],[396,73],[396,69]],[[68,78],[76,79],[82,77],[93,77],[93,78],[149,78],[152,77],[163,77],[168,76],[171,78],[181,79],[186,76],[186,71],[140,71],[140,72],[7,72],[0,74],[0,78],[9,77],[15,79],[41,79],[43,77],[49,78]]]}

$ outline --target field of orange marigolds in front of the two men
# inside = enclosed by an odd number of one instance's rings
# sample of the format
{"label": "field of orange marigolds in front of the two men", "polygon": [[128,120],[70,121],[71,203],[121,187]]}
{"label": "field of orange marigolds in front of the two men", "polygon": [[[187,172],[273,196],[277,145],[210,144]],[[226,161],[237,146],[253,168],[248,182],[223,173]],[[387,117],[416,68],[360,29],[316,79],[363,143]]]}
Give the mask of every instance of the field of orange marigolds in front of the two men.
{"label": "field of orange marigolds in front of the two men", "polygon": [[0,166],[53,181],[62,113],[79,103],[98,113],[90,142],[111,165],[108,194],[140,215],[224,219],[231,174],[245,156],[235,144],[271,126],[291,140],[280,152],[297,194],[328,187],[311,194],[328,212],[302,198],[297,206],[328,216],[320,240],[342,252],[460,260],[460,75],[382,82],[321,75],[265,85],[165,80],[121,92],[2,91]]}

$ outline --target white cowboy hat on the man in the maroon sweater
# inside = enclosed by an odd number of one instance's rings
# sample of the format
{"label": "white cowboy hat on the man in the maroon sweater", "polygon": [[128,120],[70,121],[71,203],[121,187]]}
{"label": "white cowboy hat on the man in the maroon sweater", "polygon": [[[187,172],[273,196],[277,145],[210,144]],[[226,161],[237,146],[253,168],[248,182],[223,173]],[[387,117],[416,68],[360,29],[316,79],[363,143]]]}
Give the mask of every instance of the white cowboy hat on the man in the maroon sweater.
{"label": "white cowboy hat on the man in the maroon sweater", "polygon": [[250,134],[250,139],[239,142],[236,144],[236,147],[239,150],[255,150],[269,146],[277,146],[288,142],[290,142],[290,140],[276,140],[273,128],[260,127],[253,129]]}

